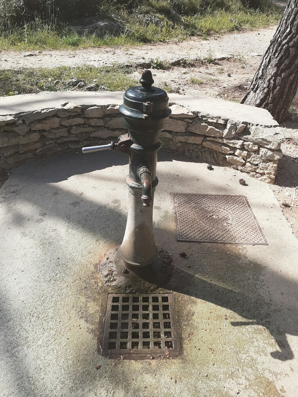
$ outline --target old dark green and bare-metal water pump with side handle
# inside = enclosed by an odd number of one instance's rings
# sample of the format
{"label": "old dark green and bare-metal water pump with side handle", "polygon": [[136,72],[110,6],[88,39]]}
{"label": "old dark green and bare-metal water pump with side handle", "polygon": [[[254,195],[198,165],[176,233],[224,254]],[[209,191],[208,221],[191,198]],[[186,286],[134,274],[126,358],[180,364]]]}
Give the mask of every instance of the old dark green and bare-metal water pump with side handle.
{"label": "old dark green and bare-metal water pump with side handle", "polygon": [[128,133],[120,135],[117,143],[91,146],[82,151],[118,148],[129,155],[129,174],[126,177],[129,188],[128,217],[122,244],[114,256],[114,267],[128,279],[150,281],[154,274],[159,273],[161,266],[153,234],[153,198],[158,184],[159,134],[171,110],[166,92],[152,87],[151,71],[143,71],[140,83],[141,86],[126,90],[120,106]]}

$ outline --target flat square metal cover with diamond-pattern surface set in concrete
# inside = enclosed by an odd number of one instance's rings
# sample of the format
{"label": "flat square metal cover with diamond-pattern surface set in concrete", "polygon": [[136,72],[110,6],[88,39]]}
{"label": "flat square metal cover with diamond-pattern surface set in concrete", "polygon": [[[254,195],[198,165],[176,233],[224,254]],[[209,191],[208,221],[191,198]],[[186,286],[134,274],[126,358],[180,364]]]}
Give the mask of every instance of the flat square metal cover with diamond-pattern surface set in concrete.
{"label": "flat square metal cover with diamond-pattern surface set in concrete", "polygon": [[244,196],[172,193],[177,241],[268,245]]}

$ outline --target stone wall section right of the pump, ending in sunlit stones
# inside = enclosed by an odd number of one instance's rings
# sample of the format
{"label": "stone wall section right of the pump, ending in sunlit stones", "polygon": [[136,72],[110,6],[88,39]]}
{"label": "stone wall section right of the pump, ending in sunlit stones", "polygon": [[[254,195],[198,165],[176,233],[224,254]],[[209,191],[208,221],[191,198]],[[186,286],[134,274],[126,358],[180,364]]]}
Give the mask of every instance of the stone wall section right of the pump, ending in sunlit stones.
{"label": "stone wall section right of the pump, ending in sunlit stones", "polygon": [[274,183],[282,158],[281,139],[275,127],[250,125],[246,121],[210,118],[199,111],[187,112],[177,104],[161,133],[166,151],[214,165],[231,166],[251,177]]}

